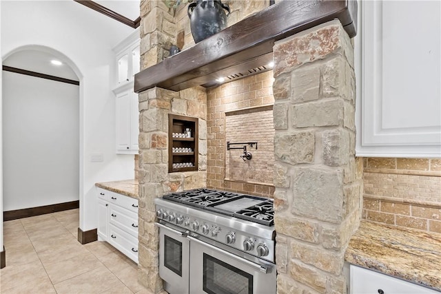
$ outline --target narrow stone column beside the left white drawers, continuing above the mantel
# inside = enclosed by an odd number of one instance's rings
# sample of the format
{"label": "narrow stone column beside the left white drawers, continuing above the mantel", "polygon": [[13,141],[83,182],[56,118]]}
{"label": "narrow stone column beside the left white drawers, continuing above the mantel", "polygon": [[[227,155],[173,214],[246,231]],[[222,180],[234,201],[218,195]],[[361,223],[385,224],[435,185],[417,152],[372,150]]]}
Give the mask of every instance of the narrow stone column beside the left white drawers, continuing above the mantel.
{"label": "narrow stone column beside the left white drawers, continuing above the mantel", "polygon": [[[163,1],[141,1],[141,70],[167,56],[176,43],[176,24]],[[158,229],[154,227],[154,198],[163,196],[168,178],[168,114],[178,92],[153,88],[139,94],[139,265],[138,280],[158,293]]]}

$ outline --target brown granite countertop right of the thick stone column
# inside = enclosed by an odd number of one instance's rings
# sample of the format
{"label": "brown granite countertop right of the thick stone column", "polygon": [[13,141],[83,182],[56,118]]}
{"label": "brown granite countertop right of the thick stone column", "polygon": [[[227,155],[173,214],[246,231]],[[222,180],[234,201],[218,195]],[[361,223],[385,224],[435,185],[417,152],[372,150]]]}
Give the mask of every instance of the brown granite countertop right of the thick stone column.
{"label": "brown granite countertop right of the thick stone column", "polygon": [[345,259],[441,291],[441,234],[362,221]]}

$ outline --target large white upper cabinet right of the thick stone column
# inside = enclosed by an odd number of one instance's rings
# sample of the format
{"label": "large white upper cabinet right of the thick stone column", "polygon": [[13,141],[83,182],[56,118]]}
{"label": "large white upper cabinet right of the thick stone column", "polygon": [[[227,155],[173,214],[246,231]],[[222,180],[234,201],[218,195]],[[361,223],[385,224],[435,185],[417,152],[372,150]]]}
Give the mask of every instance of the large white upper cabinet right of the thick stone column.
{"label": "large white upper cabinet right of the thick stone column", "polygon": [[357,156],[441,157],[441,2],[358,3]]}

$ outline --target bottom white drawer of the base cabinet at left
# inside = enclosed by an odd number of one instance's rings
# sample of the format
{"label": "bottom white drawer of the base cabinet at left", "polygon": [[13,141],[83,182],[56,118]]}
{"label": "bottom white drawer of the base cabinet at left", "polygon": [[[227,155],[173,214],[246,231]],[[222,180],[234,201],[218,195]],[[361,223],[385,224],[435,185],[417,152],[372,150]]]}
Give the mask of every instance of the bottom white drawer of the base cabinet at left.
{"label": "bottom white drawer of the base cabinet at left", "polygon": [[127,255],[131,260],[138,263],[138,238],[109,224],[108,242],[116,249]]}

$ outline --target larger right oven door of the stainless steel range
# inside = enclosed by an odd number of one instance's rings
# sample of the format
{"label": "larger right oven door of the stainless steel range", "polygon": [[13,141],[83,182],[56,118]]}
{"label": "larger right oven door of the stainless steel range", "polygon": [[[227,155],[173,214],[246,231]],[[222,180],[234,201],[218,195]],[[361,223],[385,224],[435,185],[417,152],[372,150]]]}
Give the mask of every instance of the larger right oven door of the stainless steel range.
{"label": "larger right oven door of the stainless steel range", "polygon": [[191,256],[190,293],[276,293],[275,264],[236,255],[232,253],[236,249],[231,250],[223,244],[209,244],[198,235],[187,238],[190,240]]}

